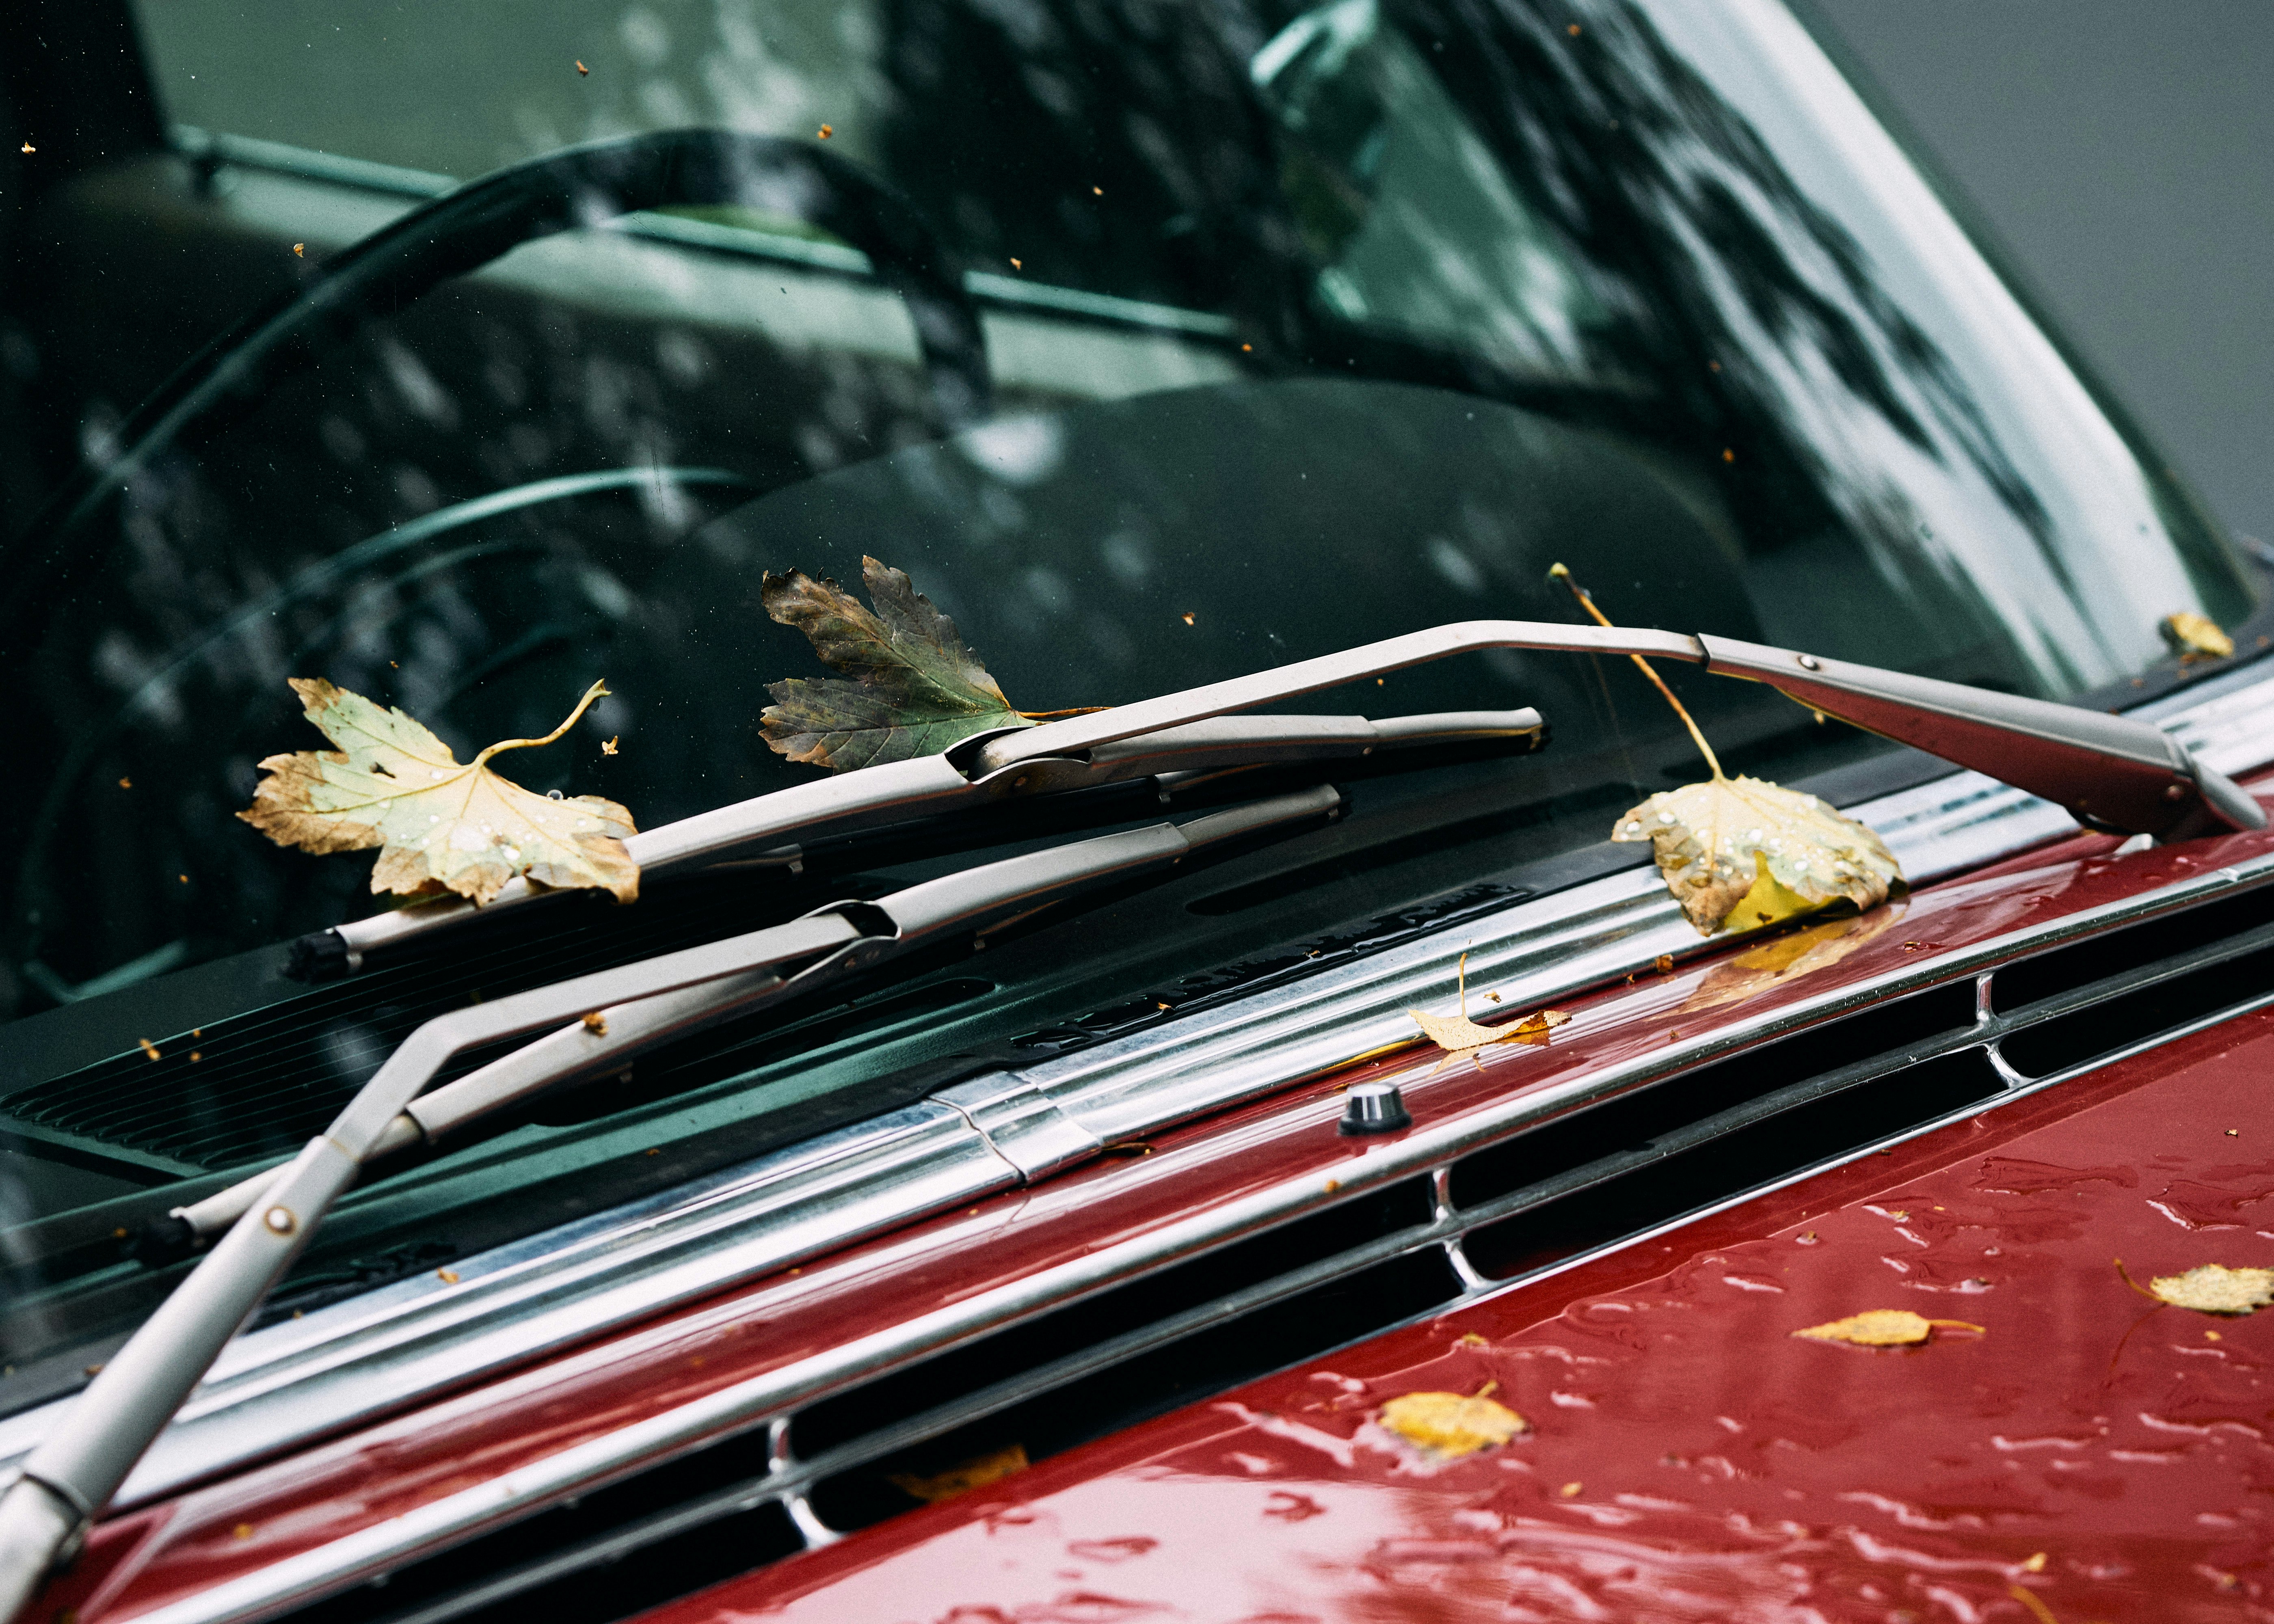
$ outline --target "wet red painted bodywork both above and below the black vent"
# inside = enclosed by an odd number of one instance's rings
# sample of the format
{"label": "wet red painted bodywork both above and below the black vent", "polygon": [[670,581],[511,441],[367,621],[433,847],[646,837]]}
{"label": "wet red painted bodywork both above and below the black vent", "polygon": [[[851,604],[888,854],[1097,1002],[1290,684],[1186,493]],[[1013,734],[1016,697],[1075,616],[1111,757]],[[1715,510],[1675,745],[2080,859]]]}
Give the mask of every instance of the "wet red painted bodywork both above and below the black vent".
{"label": "wet red painted bodywork both above and below the black vent", "polygon": [[[2110,844],[1928,887],[1810,976],[1733,955],[1646,969],[1574,1001],[1549,1051],[1371,1071],[1408,1085],[1426,1137],[1765,1003],[2204,878],[2274,835]],[[2156,1306],[2113,1262],[2142,1283],[2274,1265],[2269,1078],[2274,1012],[2229,1019],[653,1617],[2274,1619],[2274,1310]],[[1289,1089],[127,1513],[48,1606],[146,1615],[914,1312],[1110,1262],[1210,1203],[1333,1192],[1376,1153],[1335,1140],[1337,1108],[1333,1078]],[[1981,1331],[1881,1351],[1792,1335],[1874,1308]],[[1485,1383],[1530,1424],[1499,1449],[1433,1465],[1376,1419]]]}

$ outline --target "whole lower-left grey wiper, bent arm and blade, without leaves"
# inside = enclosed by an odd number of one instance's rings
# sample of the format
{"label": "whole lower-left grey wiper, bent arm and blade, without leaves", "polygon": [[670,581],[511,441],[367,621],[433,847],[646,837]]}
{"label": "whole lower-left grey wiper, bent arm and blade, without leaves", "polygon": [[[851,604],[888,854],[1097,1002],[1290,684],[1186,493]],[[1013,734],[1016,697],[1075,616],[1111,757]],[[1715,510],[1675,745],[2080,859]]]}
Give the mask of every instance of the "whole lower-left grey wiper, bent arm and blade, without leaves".
{"label": "whole lower-left grey wiper, bent arm and blade, without leaves", "polygon": [[[1078,892],[1167,869],[1226,839],[1301,830],[1339,807],[1342,794],[1319,785],[1185,823],[1101,835],[926,880],[873,903],[832,903],[782,926],[573,976],[425,1021],[298,1158],[250,1180],[255,1187],[239,1205],[241,1217],[223,1217],[218,1208],[209,1215],[225,1231],[218,1244],[102,1365],[23,1463],[0,1497],[0,1622],[14,1619],[57,1556],[84,1538],[364,1162],[398,1149],[405,1133],[423,1137],[428,1128],[418,1105],[437,1124],[464,1126],[475,1115],[566,1076],[621,1064],[630,1053],[712,1019],[837,985],[946,935],[1001,928]],[[421,1099],[434,1074],[466,1049],[543,1028],[557,1030],[521,1051],[532,1055],[530,1062],[491,1064]],[[478,1078],[482,1083],[468,1087]],[[462,1092],[453,1096],[453,1089]],[[186,1210],[177,1217],[186,1224]]]}

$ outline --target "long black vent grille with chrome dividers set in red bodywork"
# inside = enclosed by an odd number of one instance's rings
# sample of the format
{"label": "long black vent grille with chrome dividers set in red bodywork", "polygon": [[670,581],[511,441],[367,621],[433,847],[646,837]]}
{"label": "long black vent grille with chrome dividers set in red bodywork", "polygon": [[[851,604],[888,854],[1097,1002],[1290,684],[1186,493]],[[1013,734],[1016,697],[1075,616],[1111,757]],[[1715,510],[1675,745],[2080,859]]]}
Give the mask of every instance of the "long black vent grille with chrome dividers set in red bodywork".
{"label": "long black vent grille with chrome dividers set in red bodywork", "polygon": [[[1201,1258],[1162,1258],[293,1617],[503,1624],[539,1606],[562,1624],[628,1617],[723,1576],[669,1558],[703,1528],[753,1528],[737,1565],[757,1567],[787,1549],[782,1528],[816,1542],[914,1508],[901,1478],[1012,1447],[1028,1460],[1071,1449],[2274,1003],[2274,885],[2251,880],[2074,946],[1872,996]],[[753,1522],[766,1508],[778,1519]],[[580,1579],[603,1567],[605,1583]]]}

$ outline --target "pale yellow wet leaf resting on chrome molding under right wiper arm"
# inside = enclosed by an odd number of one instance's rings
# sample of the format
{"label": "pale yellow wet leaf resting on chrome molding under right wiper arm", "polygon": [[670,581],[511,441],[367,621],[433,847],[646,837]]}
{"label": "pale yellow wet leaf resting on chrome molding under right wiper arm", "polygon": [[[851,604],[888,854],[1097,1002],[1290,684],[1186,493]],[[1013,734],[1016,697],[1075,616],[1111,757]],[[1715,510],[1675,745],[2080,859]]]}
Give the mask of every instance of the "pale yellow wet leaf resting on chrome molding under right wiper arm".
{"label": "pale yellow wet leaf resting on chrome molding under right wiper arm", "polygon": [[1840,901],[1876,908],[1903,880],[1869,828],[1760,778],[1665,789],[1621,817],[1610,837],[1651,842],[1699,935],[1758,930]]}

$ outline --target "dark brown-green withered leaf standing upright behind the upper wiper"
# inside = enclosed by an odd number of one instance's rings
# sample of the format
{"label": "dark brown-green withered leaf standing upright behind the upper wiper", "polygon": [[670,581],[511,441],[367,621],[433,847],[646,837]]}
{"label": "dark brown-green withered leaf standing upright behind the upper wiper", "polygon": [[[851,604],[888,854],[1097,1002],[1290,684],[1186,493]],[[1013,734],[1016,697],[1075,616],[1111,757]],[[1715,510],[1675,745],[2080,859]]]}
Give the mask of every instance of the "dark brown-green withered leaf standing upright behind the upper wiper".
{"label": "dark brown-green withered leaf standing upright behind the upper wiper", "polygon": [[873,612],[835,580],[796,569],[762,580],[766,614],[805,632],[821,664],[850,678],[773,682],[762,716],[769,748],[844,773],[1032,726],[905,573],[864,557],[862,580]]}

